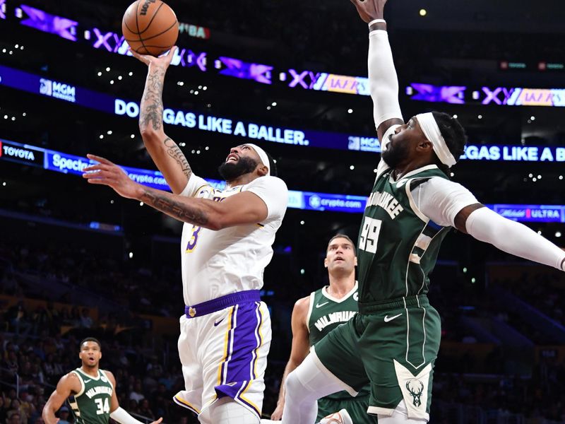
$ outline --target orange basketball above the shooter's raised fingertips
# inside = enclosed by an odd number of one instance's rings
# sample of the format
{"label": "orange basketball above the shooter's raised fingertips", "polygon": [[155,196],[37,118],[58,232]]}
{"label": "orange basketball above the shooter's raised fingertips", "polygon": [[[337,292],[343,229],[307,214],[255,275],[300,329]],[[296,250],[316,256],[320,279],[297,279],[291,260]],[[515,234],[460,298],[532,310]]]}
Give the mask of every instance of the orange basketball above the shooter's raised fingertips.
{"label": "orange basketball above the shooter's raised fingertips", "polygon": [[159,56],[177,42],[179,23],[161,0],[137,0],[126,9],[121,32],[134,52]]}

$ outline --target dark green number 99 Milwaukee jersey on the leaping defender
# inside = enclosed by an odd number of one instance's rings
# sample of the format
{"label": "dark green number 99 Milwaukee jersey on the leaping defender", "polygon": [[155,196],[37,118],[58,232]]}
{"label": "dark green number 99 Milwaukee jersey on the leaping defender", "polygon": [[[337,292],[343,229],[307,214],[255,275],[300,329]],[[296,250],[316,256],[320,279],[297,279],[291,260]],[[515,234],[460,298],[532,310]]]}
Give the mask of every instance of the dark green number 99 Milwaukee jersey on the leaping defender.
{"label": "dark green number 99 Milwaukee jersey on the leaping defender", "polygon": [[417,209],[411,189],[432,177],[446,178],[436,165],[393,181],[391,169],[376,177],[363,215],[357,249],[359,302],[382,302],[428,291],[428,274],[450,227]]}

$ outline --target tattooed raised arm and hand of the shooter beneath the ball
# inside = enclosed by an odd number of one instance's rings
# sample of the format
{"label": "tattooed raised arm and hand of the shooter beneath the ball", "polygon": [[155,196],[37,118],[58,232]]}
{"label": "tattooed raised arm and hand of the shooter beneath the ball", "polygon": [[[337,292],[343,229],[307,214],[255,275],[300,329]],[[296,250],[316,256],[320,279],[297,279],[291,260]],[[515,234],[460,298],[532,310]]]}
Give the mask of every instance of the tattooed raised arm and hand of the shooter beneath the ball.
{"label": "tattooed raised arm and hand of the shooter beneath the ball", "polygon": [[177,143],[167,137],[163,129],[163,84],[165,73],[177,47],[173,47],[162,57],[138,54],[131,50],[134,57],[148,65],[145,90],[139,107],[139,130],[145,148],[153,162],[162,172],[174,194],[182,192],[192,174],[188,160]]}

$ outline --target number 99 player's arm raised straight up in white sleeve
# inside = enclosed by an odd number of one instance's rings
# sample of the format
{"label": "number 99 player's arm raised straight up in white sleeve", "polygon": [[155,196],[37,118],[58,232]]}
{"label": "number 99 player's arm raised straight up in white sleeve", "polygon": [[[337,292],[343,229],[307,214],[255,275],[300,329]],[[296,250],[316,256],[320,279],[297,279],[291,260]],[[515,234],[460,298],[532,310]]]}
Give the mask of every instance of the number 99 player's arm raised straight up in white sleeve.
{"label": "number 99 player's arm raised straight up in white sleeve", "polygon": [[369,24],[369,90],[374,105],[375,127],[382,145],[386,142],[383,135],[391,125],[404,124],[398,104],[398,77],[383,19],[386,0],[351,2],[362,20]]}

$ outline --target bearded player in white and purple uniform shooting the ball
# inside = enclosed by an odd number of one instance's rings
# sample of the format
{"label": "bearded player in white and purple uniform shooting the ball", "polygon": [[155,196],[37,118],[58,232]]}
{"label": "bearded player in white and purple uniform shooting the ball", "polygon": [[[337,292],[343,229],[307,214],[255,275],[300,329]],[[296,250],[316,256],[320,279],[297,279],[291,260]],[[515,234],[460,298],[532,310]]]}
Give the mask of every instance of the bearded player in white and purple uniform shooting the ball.
{"label": "bearded player in white and purple uniform shooting the ball", "polygon": [[186,306],[179,355],[185,390],[174,401],[198,414],[201,423],[256,424],[271,339],[269,312],[259,289],[273,257],[271,245],[285,215],[288,191],[275,177],[272,158],[254,144],[232,148],[220,165],[227,182],[223,191],[192,173],[163,130],[162,88],[173,52],[160,58],[132,52],[148,65],[141,135],[172,194],[143,187],[117,165],[94,155],[89,158],[99,164],[85,168],[84,177],[184,222]]}

